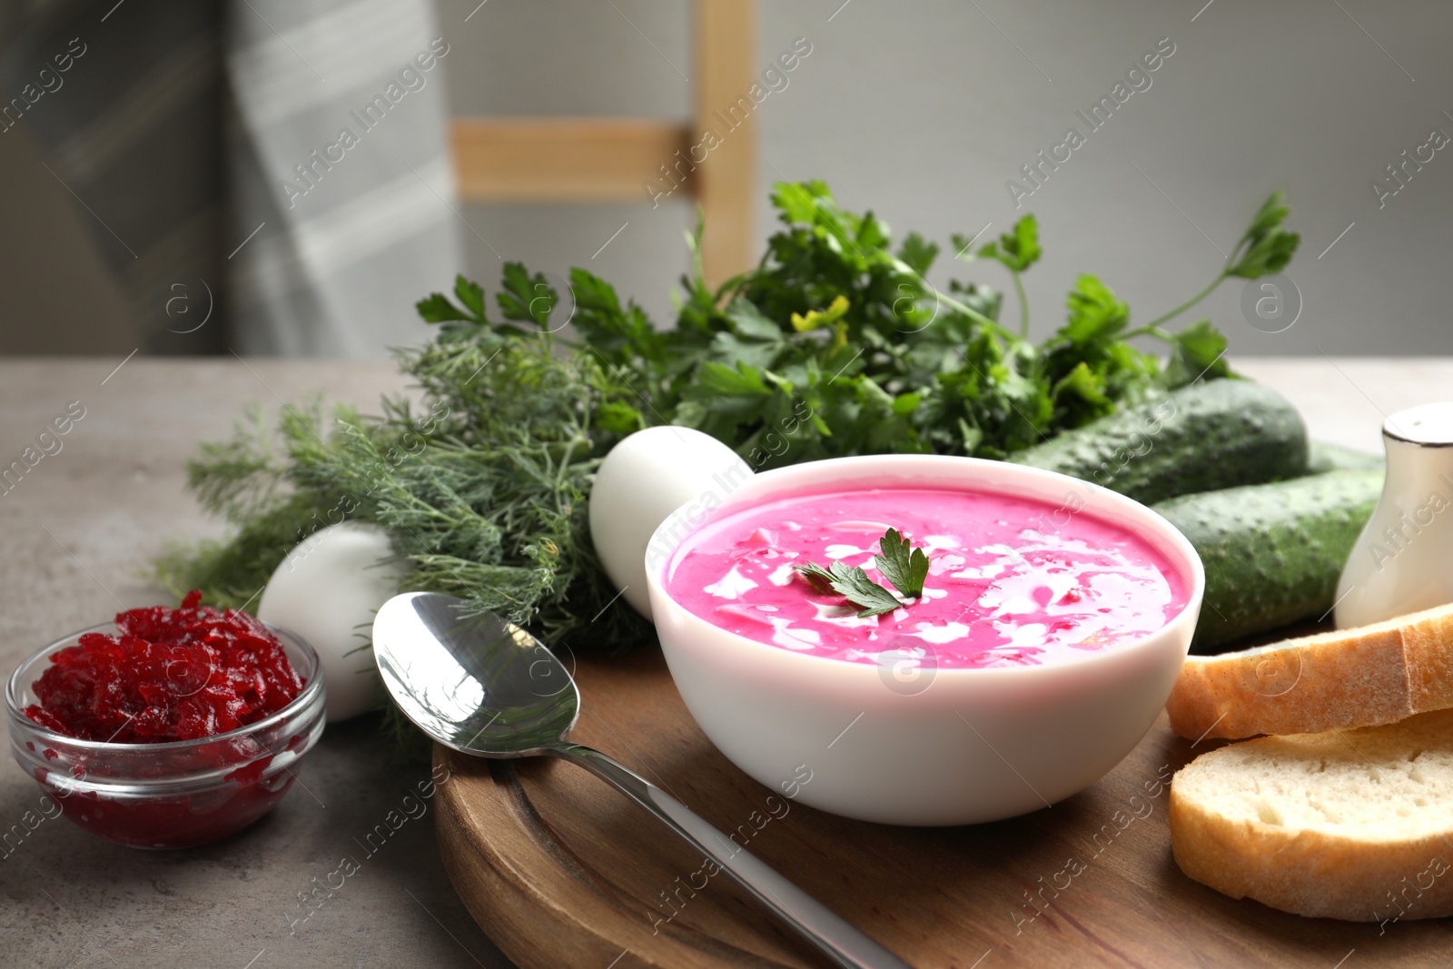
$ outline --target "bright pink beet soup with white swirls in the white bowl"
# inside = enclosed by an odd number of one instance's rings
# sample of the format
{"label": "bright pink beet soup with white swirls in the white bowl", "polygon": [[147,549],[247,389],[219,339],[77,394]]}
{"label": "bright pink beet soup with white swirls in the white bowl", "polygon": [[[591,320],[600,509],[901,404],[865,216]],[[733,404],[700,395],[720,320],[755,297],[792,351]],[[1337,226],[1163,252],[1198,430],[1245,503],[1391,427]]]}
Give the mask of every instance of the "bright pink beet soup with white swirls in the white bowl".
{"label": "bright pink beet soup with white swirls in the white bowl", "polygon": [[[923,597],[859,617],[793,568],[859,565],[889,527],[928,556]],[[1189,583],[1129,529],[1001,494],[875,488],[801,494],[712,522],[673,555],[673,600],[712,625],[793,652],[879,662],[885,651],[937,667],[1059,662],[1155,632]]]}

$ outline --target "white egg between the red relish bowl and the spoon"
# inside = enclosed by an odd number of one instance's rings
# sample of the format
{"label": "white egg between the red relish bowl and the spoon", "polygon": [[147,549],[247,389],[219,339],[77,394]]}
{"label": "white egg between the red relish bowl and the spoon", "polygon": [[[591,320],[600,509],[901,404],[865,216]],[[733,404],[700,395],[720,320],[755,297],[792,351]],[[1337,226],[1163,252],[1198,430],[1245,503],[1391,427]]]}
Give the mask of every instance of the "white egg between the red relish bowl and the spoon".
{"label": "white egg between the red relish bowl and the spoon", "polygon": [[407,569],[384,529],[343,522],[304,539],[267,580],[257,617],[298,633],[318,654],[330,723],[373,706],[378,667],[372,648],[359,646]]}

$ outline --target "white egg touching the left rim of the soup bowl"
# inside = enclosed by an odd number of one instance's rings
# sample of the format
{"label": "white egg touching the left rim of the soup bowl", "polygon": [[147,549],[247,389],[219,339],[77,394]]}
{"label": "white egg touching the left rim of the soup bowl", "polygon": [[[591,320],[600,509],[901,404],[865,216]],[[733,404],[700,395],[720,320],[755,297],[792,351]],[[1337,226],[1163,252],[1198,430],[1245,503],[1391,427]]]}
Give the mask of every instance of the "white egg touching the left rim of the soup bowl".
{"label": "white egg touching the left rim of the soup bowl", "polygon": [[[751,468],[737,452],[690,427],[638,430],[606,455],[590,490],[590,538],[610,581],[636,612],[651,617],[647,545],[657,527],[680,510],[680,535],[673,538],[684,538],[750,478]],[[652,548],[651,558],[670,554],[667,545],[674,540]]]}

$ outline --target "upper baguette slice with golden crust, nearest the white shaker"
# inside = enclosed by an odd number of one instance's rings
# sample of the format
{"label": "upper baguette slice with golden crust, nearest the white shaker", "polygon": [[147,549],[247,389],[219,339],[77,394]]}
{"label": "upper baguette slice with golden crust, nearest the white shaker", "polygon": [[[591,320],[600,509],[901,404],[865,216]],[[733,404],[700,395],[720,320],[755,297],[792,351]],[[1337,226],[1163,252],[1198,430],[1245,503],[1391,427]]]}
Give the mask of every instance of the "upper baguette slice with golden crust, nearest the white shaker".
{"label": "upper baguette slice with golden crust, nearest the white shaker", "polygon": [[1165,702],[1189,739],[1316,734],[1453,706],[1453,604],[1372,626],[1187,657]]}

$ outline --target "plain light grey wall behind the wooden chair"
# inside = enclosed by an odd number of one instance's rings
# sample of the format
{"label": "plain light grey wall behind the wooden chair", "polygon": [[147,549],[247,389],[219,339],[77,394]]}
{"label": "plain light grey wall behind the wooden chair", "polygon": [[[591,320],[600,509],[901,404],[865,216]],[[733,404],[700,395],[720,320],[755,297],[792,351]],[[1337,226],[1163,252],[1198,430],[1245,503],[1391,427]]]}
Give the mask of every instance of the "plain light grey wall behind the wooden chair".
{"label": "plain light grey wall behind the wooden chair", "polygon": [[[690,89],[676,70],[692,73],[689,4],[488,0],[465,22],[477,3],[440,4],[450,44],[477,52],[450,60],[461,113],[687,116]],[[812,54],[757,115],[760,234],[779,177],[825,179],[846,206],[870,206],[895,231],[918,228],[944,244],[985,222],[1003,231],[1019,215],[1005,180],[1067,126],[1088,131],[1075,112],[1170,38],[1175,52],[1151,87],[1021,209],[1039,215],[1046,247],[1027,277],[1035,331],[1062,320],[1078,272],[1100,275],[1142,321],[1181,302],[1219,267],[1215,247],[1229,250],[1263,198],[1283,187],[1303,235],[1287,273],[1302,315],[1284,333],[1258,331],[1242,315],[1242,285],[1228,282],[1203,307],[1232,352],[1453,352],[1444,299],[1453,150],[1437,151],[1382,209],[1369,189],[1431,128],[1453,135],[1440,113],[1453,113],[1453,7],[1203,4],[763,0],[763,65],[798,36]],[[661,317],[686,266],[680,205],[490,206],[471,209],[469,221],[507,257],[555,272],[587,264]],[[472,266],[493,275],[497,260],[471,243]],[[992,267],[965,269],[1007,282]]]}

